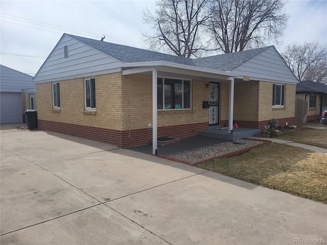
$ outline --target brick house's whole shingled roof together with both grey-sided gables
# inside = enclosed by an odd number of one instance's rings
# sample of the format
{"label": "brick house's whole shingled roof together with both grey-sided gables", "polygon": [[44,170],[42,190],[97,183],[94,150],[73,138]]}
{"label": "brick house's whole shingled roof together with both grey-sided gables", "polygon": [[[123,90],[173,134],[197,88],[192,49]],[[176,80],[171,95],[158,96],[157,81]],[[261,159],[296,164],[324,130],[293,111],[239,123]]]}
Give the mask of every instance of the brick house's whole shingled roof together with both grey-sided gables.
{"label": "brick house's whole shingled roof together with both grey-sided gables", "polygon": [[[68,57],[64,58],[64,46]],[[64,34],[34,77],[36,83],[83,78],[121,71],[126,63],[167,61],[281,83],[297,83],[293,72],[274,46],[199,59],[143,50]],[[133,64],[133,65],[134,65]],[[142,64],[139,64],[142,66]]]}

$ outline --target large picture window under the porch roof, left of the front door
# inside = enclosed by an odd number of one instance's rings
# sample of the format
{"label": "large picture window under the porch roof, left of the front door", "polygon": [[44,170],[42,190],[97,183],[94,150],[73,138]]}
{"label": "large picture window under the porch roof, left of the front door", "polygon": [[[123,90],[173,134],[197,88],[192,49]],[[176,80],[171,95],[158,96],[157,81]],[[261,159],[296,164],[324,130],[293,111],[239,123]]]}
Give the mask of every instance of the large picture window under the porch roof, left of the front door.
{"label": "large picture window under the porch roof, left of the front door", "polygon": [[158,110],[191,109],[191,81],[172,78],[157,80]]}

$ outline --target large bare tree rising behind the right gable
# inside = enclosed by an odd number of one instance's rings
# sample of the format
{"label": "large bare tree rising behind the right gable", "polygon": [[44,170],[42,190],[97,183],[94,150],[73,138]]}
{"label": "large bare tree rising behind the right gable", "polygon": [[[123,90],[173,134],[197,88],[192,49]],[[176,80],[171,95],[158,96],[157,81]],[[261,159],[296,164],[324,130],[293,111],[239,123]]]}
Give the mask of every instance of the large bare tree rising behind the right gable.
{"label": "large bare tree rising behind the right gable", "polygon": [[289,16],[283,0],[213,0],[208,26],[224,53],[264,46],[283,35]]}

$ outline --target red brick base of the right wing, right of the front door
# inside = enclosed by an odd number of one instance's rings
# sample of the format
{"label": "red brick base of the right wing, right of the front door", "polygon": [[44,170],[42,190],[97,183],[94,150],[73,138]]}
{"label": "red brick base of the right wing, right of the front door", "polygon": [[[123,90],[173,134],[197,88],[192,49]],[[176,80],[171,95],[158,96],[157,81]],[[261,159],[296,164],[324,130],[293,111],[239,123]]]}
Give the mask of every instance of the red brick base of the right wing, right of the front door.
{"label": "red brick base of the right wing, right of the front door", "polygon": [[[295,118],[294,117],[288,117],[288,118],[276,118],[278,121],[277,126],[284,128],[286,126],[286,122],[288,125],[294,125],[295,124]],[[223,127],[225,124],[228,123],[228,120],[222,120],[220,121],[220,125]],[[264,126],[271,126],[270,120],[266,121],[241,121],[241,120],[234,120],[234,124],[237,124],[239,127],[243,128],[253,128],[253,129],[261,129],[264,130]]]}

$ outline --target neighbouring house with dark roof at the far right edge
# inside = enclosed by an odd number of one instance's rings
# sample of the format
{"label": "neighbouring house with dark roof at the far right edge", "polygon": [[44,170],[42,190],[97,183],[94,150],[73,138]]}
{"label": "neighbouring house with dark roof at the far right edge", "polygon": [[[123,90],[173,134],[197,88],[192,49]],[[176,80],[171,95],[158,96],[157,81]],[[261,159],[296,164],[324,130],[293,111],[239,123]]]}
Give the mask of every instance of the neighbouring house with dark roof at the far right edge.
{"label": "neighbouring house with dark roof at the far right edge", "polygon": [[296,98],[308,102],[306,121],[320,119],[327,110],[327,85],[314,81],[301,81],[296,85]]}

